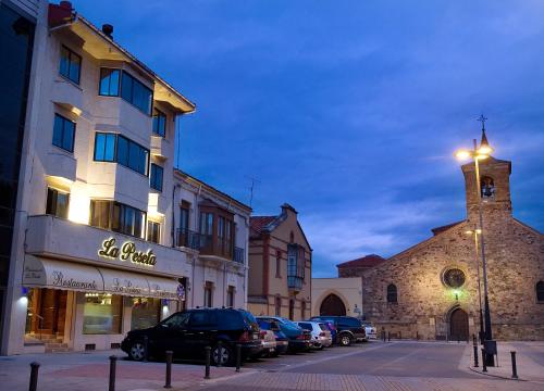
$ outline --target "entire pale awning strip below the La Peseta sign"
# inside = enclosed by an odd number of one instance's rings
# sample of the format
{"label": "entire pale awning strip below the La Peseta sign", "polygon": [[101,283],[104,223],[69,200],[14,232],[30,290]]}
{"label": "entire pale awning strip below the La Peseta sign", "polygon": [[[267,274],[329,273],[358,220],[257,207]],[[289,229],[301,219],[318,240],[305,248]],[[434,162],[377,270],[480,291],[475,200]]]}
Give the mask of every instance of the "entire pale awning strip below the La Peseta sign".
{"label": "entire pale awning strip below the La Peseta sign", "polygon": [[34,255],[25,256],[23,286],[180,300],[180,283],[174,279]]}

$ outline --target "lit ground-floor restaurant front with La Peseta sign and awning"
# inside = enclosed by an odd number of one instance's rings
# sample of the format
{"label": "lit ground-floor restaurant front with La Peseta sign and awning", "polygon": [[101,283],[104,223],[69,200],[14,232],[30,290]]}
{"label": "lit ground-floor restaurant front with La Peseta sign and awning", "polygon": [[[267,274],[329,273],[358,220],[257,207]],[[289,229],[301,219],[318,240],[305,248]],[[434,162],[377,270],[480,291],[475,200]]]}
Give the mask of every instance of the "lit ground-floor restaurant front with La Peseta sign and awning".
{"label": "lit ground-floor restaurant front with La Peseta sign and awning", "polygon": [[[52,257],[49,250],[25,255],[27,346],[116,348],[127,331],[151,327],[183,306],[187,273],[172,268],[187,264],[180,251],[120,235],[98,241],[95,258],[85,251],[88,257],[72,256],[70,249]],[[170,276],[159,275],[164,269]]]}

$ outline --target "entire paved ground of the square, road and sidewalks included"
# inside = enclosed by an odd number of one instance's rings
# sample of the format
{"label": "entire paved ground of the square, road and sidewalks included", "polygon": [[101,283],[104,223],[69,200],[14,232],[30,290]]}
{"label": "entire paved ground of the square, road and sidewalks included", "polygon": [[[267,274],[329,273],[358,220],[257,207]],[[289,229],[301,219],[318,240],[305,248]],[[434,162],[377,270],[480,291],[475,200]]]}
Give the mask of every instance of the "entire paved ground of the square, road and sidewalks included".
{"label": "entire paved ground of the square, road and sidewalks included", "polygon": [[[544,343],[499,344],[499,367],[471,368],[466,343],[379,341],[286,355],[234,368],[175,364],[173,390],[544,390]],[[510,380],[509,350],[518,352],[521,381]],[[108,356],[120,351],[0,357],[0,389],[27,390],[28,364],[41,363],[38,390],[107,390]],[[163,390],[164,363],[118,362],[116,390]],[[478,369],[478,370],[477,370]]]}

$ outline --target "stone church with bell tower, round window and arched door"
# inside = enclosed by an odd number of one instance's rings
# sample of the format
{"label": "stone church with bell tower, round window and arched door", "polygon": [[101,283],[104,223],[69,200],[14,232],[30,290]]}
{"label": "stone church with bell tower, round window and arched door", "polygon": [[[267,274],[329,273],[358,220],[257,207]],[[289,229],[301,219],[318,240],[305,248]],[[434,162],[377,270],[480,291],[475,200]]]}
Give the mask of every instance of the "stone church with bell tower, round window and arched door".
{"label": "stone church with bell tower, round window and arched door", "polygon": [[[480,189],[473,162],[461,168],[466,219],[433,229],[430,239],[371,267],[359,265],[350,270],[349,264],[341,264],[339,277],[361,277],[363,316],[379,330],[430,340],[467,340],[478,335],[474,230],[481,194],[493,337],[542,340],[544,238],[512,216],[511,162],[492,156],[481,160]],[[481,276],[481,261],[479,265]],[[481,290],[483,298],[483,282]]]}

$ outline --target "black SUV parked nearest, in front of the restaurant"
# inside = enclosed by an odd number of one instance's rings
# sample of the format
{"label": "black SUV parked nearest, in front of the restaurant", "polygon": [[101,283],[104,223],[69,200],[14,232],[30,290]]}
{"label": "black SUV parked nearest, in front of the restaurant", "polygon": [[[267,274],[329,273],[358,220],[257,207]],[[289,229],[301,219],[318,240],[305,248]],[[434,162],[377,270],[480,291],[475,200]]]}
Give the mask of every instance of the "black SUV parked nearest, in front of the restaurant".
{"label": "black SUV parked nearest, in front of the restaurant", "polygon": [[[222,341],[222,349],[219,341]],[[128,331],[121,349],[136,361],[146,356],[162,357],[169,350],[176,358],[202,360],[205,348],[211,346],[213,364],[232,365],[236,344],[242,346],[243,358],[262,350],[259,325],[251,313],[233,308],[194,308],[175,313],[154,327]]]}

